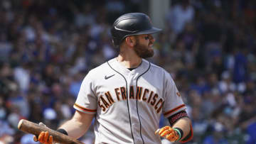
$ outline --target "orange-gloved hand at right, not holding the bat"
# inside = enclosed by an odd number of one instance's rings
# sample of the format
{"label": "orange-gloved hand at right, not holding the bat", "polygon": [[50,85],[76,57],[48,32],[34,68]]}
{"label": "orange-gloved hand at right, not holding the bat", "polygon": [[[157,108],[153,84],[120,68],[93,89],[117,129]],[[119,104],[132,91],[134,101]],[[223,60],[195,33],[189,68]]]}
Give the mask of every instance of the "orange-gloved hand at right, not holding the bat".
{"label": "orange-gloved hand at right, not holding the bat", "polygon": [[160,135],[171,142],[176,142],[179,139],[178,132],[170,126],[164,126],[156,130],[155,134]]}

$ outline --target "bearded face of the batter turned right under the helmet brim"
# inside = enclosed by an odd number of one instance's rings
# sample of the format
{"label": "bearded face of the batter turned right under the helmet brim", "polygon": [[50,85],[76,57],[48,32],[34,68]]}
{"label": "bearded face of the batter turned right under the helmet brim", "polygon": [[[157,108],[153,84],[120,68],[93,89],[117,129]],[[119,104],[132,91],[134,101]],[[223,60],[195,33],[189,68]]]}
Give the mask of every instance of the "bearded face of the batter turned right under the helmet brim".
{"label": "bearded face of the batter turned right under the helmet brim", "polygon": [[139,57],[148,58],[154,55],[154,50],[152,49],[154,38],[151,34],[137,35],[135,36],[135,40],[136,45],[134,45],[134,51]]}

